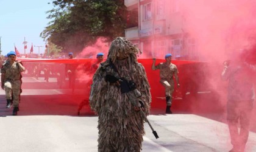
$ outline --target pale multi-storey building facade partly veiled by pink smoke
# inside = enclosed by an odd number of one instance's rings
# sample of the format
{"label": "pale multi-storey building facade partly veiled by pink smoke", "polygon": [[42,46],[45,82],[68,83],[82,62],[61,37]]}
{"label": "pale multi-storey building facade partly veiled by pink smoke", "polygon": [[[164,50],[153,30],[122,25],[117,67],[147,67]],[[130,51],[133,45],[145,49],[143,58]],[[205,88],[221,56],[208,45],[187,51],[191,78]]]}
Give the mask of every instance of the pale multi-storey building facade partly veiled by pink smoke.
{"label": "pale multi-storey building facade partly veiled by pink smoke", "polygon": [[[196,38],[186,29],[179,0],[124,0],[129,19],[126,38],[149,58],[171,53],[174,60],[200,60]],[[137,20],[137,21],[135,21]]]}

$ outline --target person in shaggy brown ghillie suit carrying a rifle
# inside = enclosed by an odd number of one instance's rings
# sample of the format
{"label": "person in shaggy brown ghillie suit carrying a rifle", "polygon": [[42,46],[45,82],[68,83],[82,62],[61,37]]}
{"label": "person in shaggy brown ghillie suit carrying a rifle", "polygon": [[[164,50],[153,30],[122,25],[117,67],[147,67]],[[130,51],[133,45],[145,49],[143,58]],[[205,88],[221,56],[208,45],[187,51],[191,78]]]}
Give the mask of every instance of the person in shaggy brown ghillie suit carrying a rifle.
{"label": "person in shaggy brown ghillie suit carrying a rifle", "polygon": [[[140,49],[126,38],[116,38],[107,61],[93,76],[89,100],[99,116],[98,151],[141,150],[144,118],[140,110],[148,116],[151,94],[144,67],[137,62],[138,53]],[[122,85],[125,81],[129,82],[128,89]]]}

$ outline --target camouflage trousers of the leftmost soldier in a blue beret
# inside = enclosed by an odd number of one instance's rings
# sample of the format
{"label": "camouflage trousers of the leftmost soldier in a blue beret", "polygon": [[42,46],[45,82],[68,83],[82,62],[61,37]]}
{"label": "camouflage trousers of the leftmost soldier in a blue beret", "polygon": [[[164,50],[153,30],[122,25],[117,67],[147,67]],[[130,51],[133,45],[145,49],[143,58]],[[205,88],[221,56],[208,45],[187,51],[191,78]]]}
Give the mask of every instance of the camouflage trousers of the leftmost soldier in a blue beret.
{"label": "camouflage trousers of the leftmost soldier in a blue beret", "polygon": [[20,80],[12,80],[12,81],[7,80],[4,83],[5,98],[12,99],[12,92],[13,92],[13,106],[14,107],[19,106],[20,89],[21,89],[21,81]]}

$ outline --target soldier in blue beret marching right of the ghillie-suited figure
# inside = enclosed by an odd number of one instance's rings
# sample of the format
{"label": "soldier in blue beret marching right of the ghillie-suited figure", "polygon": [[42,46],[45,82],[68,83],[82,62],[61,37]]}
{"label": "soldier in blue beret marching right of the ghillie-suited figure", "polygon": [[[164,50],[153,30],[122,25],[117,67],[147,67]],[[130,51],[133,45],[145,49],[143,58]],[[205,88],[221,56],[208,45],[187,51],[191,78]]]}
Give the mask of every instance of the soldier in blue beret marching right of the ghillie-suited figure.
{"label": "soldier in blue beret marching right of the ghillie-suited figure", "polygon": [[166,96],[166,113],[172,114],[171,103],[172,103],[172,93],[174,91],[174,80],[175,77],[177,88],[179,88],[179,77],[178,69],[175,64],[171,63],[171,54],[165,55],[165,63],[159,63],[155,66],[155,58],[153,58],[152,70],[160,69],[160,83],[165,87]]}

